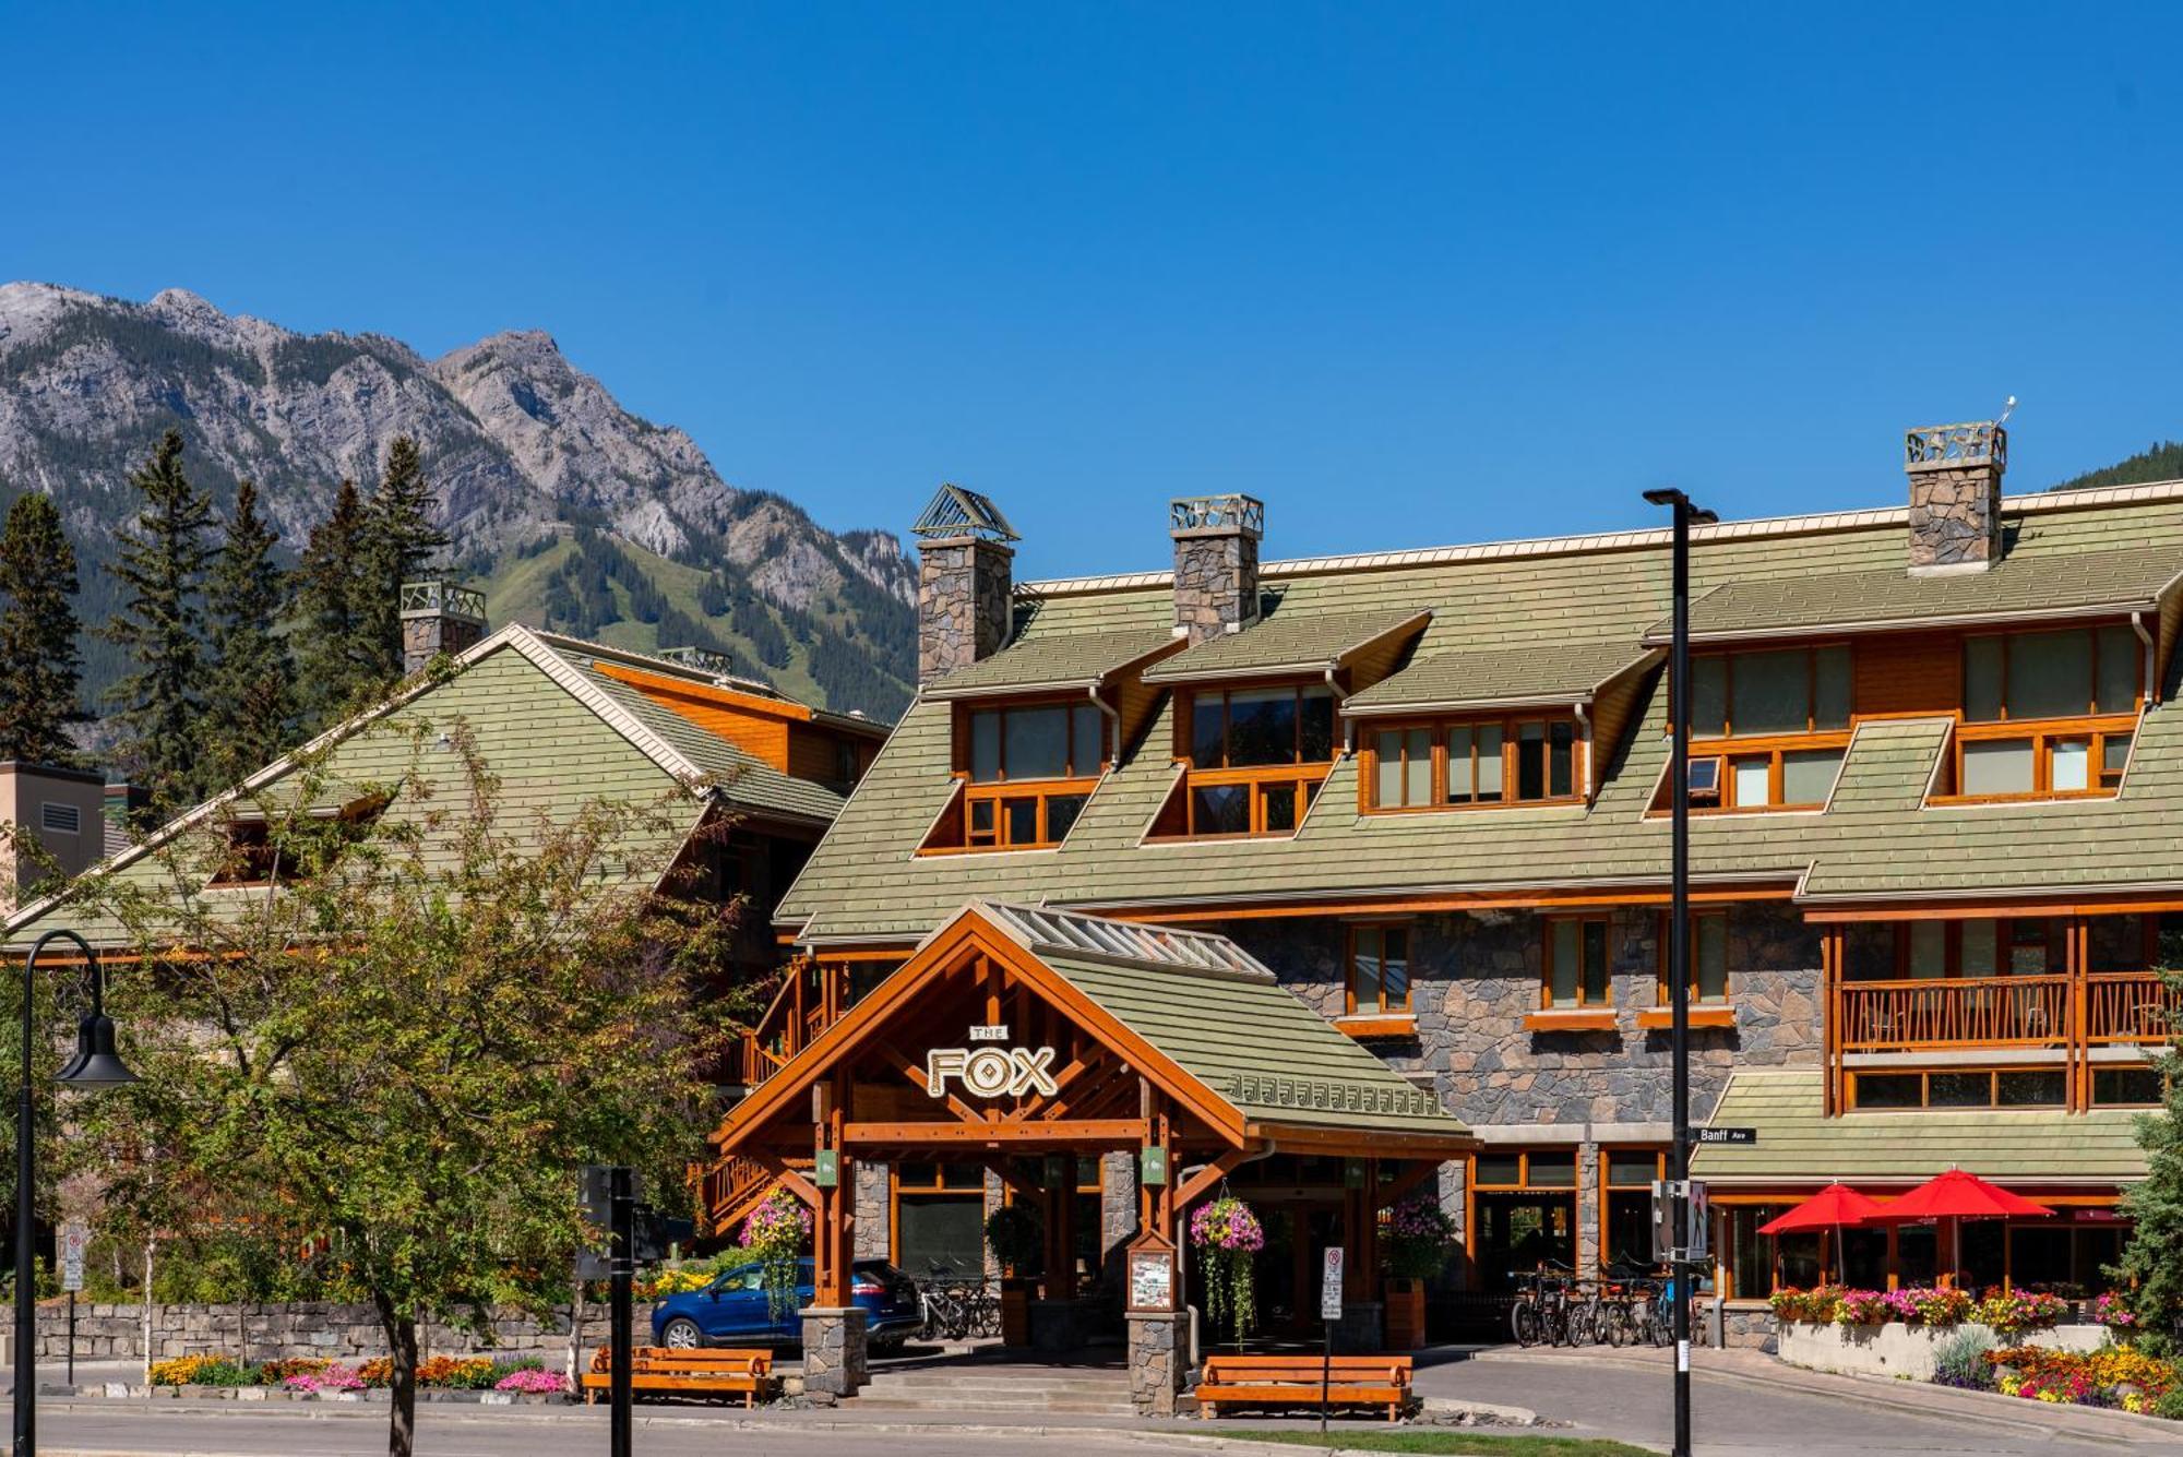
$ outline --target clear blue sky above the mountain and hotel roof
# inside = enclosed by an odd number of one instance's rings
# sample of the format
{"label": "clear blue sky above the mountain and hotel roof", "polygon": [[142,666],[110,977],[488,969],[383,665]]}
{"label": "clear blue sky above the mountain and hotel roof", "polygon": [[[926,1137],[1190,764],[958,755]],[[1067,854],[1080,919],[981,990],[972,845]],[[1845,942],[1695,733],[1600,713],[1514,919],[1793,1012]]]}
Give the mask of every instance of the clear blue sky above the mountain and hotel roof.
{"label": "clear blue sky above the mountain and hotel roof", "polygon": [[827,526],[1295,556],[2183,434],[2183,7],[17,0],[0,275],[541,327]]}

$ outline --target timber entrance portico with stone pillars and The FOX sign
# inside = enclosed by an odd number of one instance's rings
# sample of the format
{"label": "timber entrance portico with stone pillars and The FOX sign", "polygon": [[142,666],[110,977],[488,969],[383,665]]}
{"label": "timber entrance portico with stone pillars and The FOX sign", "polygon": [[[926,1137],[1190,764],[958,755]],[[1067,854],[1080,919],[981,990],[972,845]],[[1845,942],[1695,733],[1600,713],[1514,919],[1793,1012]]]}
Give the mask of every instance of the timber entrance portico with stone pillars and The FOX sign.
{"label": "timber entrance portico with stone pillars and The FOX sign", "polygon": [[[1380,1344],[1377,1211],[1474,1147],[1436,1099],[1340,1034],[1222,936],[971,901],[712,1136],[716,1228],[762,1171],[810,1204],[816,1296],[806,1387],[862,1385],[849,1300],[858,1165],[982,1165],[1039,1211],[1052,1317],[1076,1298],[1076,1160],[1126,1152],[1126,1322],[1140,1407],[1172,1409],[1192,1293],[1188,1211],[1275,1156],[1340,1171],[1345,1328]],[[1316,1291],[1310,1296],[1316,1302]],[[1161,1396],[1164,1394],[1164,1396]]]}

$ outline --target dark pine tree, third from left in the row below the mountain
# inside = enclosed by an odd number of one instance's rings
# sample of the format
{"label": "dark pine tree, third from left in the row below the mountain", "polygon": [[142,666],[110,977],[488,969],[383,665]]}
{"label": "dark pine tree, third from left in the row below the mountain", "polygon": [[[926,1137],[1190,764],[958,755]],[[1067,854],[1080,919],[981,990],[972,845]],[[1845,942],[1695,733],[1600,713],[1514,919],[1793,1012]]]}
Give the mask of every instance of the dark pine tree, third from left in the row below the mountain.
{"label": "dark pine tree, third from left in the row below the mountain", "polygon": [[205,763],[227,785],[271,763],[295,726],[288,643],[275,630],[286,606],[286,582],[273,563],[279,541],[258,515],[258,486],[236,489],[220,558],[205,582],[205,624],[212,665],[205,715],[199,722]]}

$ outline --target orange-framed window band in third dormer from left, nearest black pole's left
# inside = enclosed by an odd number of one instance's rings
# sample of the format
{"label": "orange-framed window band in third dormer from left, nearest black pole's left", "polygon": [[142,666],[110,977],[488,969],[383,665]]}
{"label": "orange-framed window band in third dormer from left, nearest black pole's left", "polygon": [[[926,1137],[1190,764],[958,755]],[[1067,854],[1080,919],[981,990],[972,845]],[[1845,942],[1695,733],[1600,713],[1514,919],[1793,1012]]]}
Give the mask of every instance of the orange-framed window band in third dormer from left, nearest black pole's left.
{"label": "orange-framed window band in third dormer from left, nearest black pole's left", "polygon": [[1574,715],[1375,728],[1364,809],[1552,805],[1585,794]]}

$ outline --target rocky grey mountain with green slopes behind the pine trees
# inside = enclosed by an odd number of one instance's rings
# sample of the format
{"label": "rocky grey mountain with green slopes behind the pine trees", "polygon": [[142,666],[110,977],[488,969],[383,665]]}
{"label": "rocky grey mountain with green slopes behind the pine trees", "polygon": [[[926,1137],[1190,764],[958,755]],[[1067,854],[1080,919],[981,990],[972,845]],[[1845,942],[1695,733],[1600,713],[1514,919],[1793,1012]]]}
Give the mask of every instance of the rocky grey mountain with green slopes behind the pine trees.
{"label": "rocky grey mountain with green slopes behind the pine trees", "polygon": [[[111,611],[129,471],[166,428],[227,506],[242,478],[286,550],[343,478],[417,438],[454,567],[522,619],[627,648],[707,646],[827,707],[893,718],[915,681],[915,569],[886,532],[834,534],[729,486],[688,434],[616,404],[539,332],[437,360],[378,334],[295,334],[170,288],[148,303],[0,284],[0,508],[48,491]],[[116,663],[85,643],[92,687]]]}

